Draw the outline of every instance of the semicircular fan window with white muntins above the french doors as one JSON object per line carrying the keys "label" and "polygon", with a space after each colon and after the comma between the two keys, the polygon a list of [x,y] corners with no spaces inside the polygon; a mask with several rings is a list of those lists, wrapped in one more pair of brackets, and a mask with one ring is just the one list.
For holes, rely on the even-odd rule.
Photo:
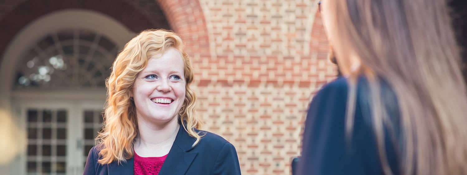
{"label": "semicircular fan window with white muntins above the french doors", "polygon": [[117,51],[115,43],[92,30],[51,32],[20,61],[14,89],[104,88]]}

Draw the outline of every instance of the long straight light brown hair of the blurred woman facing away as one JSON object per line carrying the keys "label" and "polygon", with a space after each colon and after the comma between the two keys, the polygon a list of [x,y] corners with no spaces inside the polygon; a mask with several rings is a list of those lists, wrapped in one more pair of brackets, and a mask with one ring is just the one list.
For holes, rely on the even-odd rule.
{"label": "long straight light brown hair of the blurred woman facing away", "polygon": [[[395,147],[400,147],[400,172],[466,175],[466,84],[447,1],[326,0],[324,3],[330,10],[330,42],[340,69],[350,77],[347,133],[352,131],[354,122],[355,77],[363,74],[369,81],[383,170],[392,174],[383,131],[391,125],[391,116],[383,105],[386,99],[382,98],[378,85],[384,79],[399,105],[403,139],[398,140],[401,146]],[[360,71],[351,70],[354,61],[361,63]]]}

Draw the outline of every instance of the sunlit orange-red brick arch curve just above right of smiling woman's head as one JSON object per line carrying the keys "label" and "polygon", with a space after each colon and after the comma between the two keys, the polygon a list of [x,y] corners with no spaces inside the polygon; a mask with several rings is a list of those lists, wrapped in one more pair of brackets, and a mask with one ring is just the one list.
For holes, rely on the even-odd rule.
{"label": "sunlit orange-red brick arch curve just above right of smiling woman's head", "polygon": [[209,37],[199,0],[156,0],[190,55],[209,55]]}

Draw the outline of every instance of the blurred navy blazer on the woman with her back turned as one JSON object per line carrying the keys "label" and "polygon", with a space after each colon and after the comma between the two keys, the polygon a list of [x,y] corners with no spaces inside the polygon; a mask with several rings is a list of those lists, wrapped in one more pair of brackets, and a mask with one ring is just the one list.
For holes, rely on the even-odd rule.
{"label": "blurred navy blazer on the woman with her back turned", "polygon": [[[396,145],[400,141],[397,100],[389,85],[381,82],[382,99],[394,125],[396,140],[385,128],[384,141],[389,168],[399,174]],[[303,134],[298,175],[382,175],[383,169],[373,131],[368,81],[357,83],[354,126],[346,133],[347,79],[340,77],[325,85],[311,101]],[[396,143],[396,144],[393,144]]]}

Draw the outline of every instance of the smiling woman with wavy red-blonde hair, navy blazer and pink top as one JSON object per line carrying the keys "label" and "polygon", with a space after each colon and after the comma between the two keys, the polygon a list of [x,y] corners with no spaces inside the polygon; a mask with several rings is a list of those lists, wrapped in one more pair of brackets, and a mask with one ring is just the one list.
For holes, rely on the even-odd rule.
{"label": "smiling woman with wavy red-blonde hair, navy blazer and pink top", "polygon": [[146,30],[129,41],[106,82],[104,128],[84,175],[240,175],[235,147],[199,130],[192,81],[175,33]]}

